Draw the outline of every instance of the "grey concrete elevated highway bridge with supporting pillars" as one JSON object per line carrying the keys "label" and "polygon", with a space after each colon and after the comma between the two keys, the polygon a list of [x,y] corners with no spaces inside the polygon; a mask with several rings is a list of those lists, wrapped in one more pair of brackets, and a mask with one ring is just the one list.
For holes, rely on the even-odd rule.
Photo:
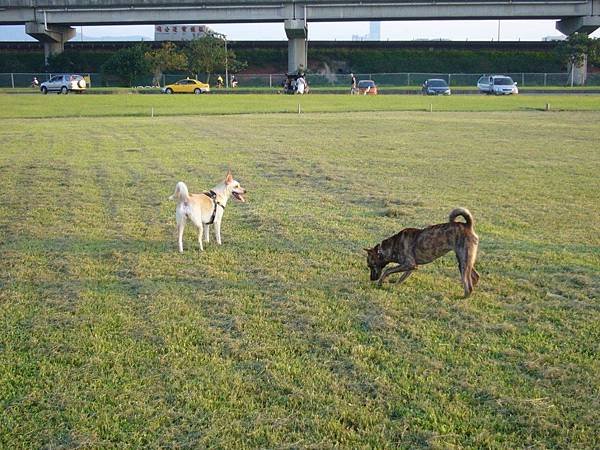
{"label": "grey concrete elevated highway bridge with supporting pillars", "polygon": [[600,0],[0,0],[0,25],[25,24],[59,53],[73,26],[281,22],[288,70],[306,67],[310,22],[556,19],[564,34],[600,27]]}

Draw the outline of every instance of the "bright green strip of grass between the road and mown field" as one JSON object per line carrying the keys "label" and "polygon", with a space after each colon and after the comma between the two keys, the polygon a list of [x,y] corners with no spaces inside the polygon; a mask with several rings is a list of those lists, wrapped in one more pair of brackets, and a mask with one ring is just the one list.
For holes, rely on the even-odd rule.
{"label": "bright green strip of grass between the road and mown field", "polygon": [[[600,111],[596,95],[454,96],[403,95],[0,95],[0,119],[222,115],[360,111]],[[289,120],[289,119],[288,119]],[[82,125],[85,122],[82,122]]]}

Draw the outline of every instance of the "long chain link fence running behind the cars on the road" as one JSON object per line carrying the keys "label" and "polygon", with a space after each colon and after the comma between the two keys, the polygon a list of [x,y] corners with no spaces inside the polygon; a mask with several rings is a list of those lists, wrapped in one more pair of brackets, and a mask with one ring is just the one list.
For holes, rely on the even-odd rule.
{"label": "long chain link fence running behind the cars on the road", "polygon": [[[0,73],[0,88],[24,88],[30,87],[34,77],[40,83],[49,80],[52,73]],[[127,82],[119,80],[115,76],[107,76],[101,73],[83,74],[89,76],[92,87],[131,87]],[[474,73],[356,73],[357,80],[373,80],[380,87],[415,87],[420,86],[429,78],[441,78],[446,80],[450,86],[473,87],[477,86],[477,80],[482,74]],[[519,87],[565,87],[570,86],[568,73],[503,73],[516,81]],[[212,75],[209,80],[215,84],[218,74]],[[174,83],[185,78],[184,74],[165,74],[161,85]],[[240,88],[272,88],[278,89],[282,86],[284,74],[236,74]],[[306,75],[307,81],[312,87],[350,88],[349,74],[313,74]],[[205,80],[200,76],[199,79]],[[152,85],[152,76],[138,77],[133,87]],[[588,73],[586,86],[600,86],[600,73]]]}

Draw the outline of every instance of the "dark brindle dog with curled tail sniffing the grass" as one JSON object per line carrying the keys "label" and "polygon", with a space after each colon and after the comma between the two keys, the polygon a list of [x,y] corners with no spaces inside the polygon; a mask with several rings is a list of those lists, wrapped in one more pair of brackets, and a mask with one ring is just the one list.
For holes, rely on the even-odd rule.
{"label": "dark brindle dog with curled tail sniffing the grass", "polygon": [[[455,222],[462,216],[466,222]],[[371,281],[379,279],[379,285],[389,275],[404,272],[398,283],[406,280],[419,264],[427,264],[445,255],[450,250],[456,253],[465,297],[473,292],[473,286],[479,281],[475,270],[479,237],[473,230],[473,216],[464,208],[456,208],[450,213],[447,223],[427,228],[405,228],[398,234],[385,239],[373,248],[365,248],[367,264],[371,269]],[[398,263],[383,272],[389,263]]]}

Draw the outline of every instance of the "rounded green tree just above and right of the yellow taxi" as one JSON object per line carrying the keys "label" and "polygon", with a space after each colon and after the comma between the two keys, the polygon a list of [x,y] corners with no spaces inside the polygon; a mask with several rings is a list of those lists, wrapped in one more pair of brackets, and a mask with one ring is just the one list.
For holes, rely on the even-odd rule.
{"label": "rounded green tree just above and right of the yellow taxi", "polygon": [[232,73],[243,70],[247,64],[238,61],[232,50],[227,49],[226,51],[226,43],[225,39],[214,35],[207,35],[191,41],[187,48],[190,73],[194,75],[205,73],[208,83],[211,74],[225,71],[226,64]]}

